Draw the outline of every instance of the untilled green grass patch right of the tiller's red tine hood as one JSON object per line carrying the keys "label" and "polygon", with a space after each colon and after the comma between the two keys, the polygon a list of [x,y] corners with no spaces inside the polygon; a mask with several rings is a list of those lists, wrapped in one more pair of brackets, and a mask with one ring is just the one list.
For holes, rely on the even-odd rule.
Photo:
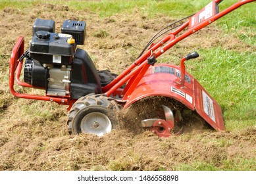
{"label": "untilled green grass patch right of the tiller's red tine hood", "polygon": [[[222,106],[227,129],[256,125],[256,54],[201,49],[193,76]],[[239,123],[240,122],[240,123]]]}

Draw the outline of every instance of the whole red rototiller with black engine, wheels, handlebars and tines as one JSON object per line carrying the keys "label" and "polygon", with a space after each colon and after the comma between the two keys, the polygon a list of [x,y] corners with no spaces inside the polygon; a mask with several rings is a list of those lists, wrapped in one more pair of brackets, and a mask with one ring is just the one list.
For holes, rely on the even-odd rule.
{"label": "whole red rototiller with black engine, wheels, handlebars and tines", "polygon": [[[222,111],[217,101],[185,70],[184,62],[199,55],[196,52],[186,55],[180,66],[156,62],[160,55],[182,39],[253,1],[238,1],[221,12],[218,11],[221,0],[211,1],[201,11],[158,32],[138,59],[118,76],[108,70],[97,70],[88,53],[76,49],[77,45],[84,44],[86,22],[65,20],[61,34],[58,34],[53,20],[36,19],[28,51],[24,52],[22,36],[14,46],[10,60],[10,91],[20,98],[68,105],[67,124],[71,134],[101,136],[109,133],[118,123],[116,113],[120,109],[150,97],[165,97],[172,102],[172,105],[163,103],[160,106],[163,116],[145,117],[139,122],[141,127],[148,127],[159,137],[182,133],[183,126],[180,125],[186,124],[182,118],[184,109],[201,116],[217,131],[224,131]],[[164,34],[163,39],[153,43]],[[20,80],[22,68],[24,81]],[[16,92],[14,78],[23,87],[44,89],[45,96]],[[180,128],[174,131],[177,126]]]}

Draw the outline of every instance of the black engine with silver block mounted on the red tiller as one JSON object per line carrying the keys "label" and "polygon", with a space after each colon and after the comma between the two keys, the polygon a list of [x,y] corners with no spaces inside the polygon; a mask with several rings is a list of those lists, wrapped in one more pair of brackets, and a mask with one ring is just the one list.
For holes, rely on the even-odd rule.
{"label": "black engine with silver block mounted on the red tiller", "polygon": [[[86,51],[76,49],[84,43],[83,21],[65,20],[62,33],[55,32],[53,20],[36,20],[30,41],[30,56],[24,67],[24,81],[45,89],[48,96],[79,99],[90,93],[102,93],[99,74]],[[75,43],[68,40],[71,36]]]}

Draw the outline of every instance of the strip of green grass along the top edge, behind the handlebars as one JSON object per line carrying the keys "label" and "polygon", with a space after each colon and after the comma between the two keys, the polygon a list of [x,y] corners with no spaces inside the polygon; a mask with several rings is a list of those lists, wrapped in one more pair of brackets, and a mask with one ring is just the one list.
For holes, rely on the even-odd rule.
{"label": "strip of green grass along the top edge, behind the handlebars", "polygon": [[[16,9],[24,9],[26,7],[39,7],[41,3],[51,3],[58,5],[66,5],[72,9],[81,11],[97,12],[100,17],[105,18],[115,14],[131,14],[134,11],[141,12],[144,16],[152,18],[157,14],[166,14],[173,18],[184,18],[201,10],[207,5],[209,0],[199,1],[179,1],[179,0],[165,0],[165,1],[125,1],[125,0],[105,0],[105,1],[41,1],[41,0],[0,0],[0,10],[5,7],[14,7]],[[220,11],[226,7],[236,3],[236,0],[225,0],[220,3]],[[226,33],[236,33],[240,39],[247,43],[256,44],[256,16],[253,12],[256,9],[255,3],[243,5],[242,8],[227,14],[220,18],[217,24],[225,30]],[[252,13],[247,13],[252,12]],[[170,22],[171,23],[171,22]],[[165,26],[165,25],[163,25]]]}

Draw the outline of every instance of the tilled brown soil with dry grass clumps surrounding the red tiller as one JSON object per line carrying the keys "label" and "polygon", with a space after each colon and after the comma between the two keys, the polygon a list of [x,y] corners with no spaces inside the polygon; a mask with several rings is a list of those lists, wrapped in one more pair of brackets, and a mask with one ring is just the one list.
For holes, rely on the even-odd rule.
{"label": "tilled brown soil with dry grass clumps surrounding the red tiller", "polygon": [[[206,128],[202,120],[185,116],[188,124],[181,136],[159,138],[142,129],[138,126],[140,119],[163,116],[157,110],[157,100],[146,99],[123,110],[119,114],[120,127],[104,137],[68,135],[66,106],[17,99],[9,93],[11,51],[19,35],[25,37],[28,48],[36,18],[55,20],[57,32],[66,19],[85,20],[86,44],[79,47],[88,51],[97,69],[116,74],[138,57],[157,30],[174,20],[161,14],[148,18],[138,10],[130,15],[101,18],[95,12],[51,4],[42,4],[40,9],[7,7],[0,11],[0,170],[180,170],[184,164],[192,163],[204,163],[221,170],[226,160],[239,162],[241,156],[255,158],[256,127],[216,132]],[[216,45],[238,51],[253,49],[234,35],[219,39],[220,34],[220,30],[209,26],[178,43],[176,47],[182,49],[172,51],[172,55],[181,58],[190,53],[191,48]],[[32,92],[43,94],[43,91]],[[161,99],[163,101],[176,110],[172,102]],[[179,108],[184,110],[182,104]],[[190,111],[186,113],[188,117],[196,116]],[[196,166],[193,169],[196,170]],[[251,170],[256,170],[255,166]]]}

